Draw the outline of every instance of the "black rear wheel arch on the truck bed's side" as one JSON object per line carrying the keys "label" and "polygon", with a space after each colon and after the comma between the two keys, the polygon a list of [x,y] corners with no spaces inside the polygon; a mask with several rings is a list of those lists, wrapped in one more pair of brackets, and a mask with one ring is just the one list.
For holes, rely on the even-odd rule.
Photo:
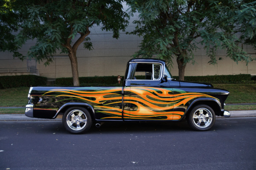
{"label": "black rear wheel arch on the truck bed's side", "polygon": [[90,113],[90,116],[92,117],[92,121],[94,122],[96,117],[95,117],[95,111],[92,105],[89,105],[87,103],[79,103],[79,102],[70,102],[70,103],[65,103],[64,105],[61,106],[61,108],[58,109],[56,115],[53,117],[53,119],[55,119],[59,114],[63,114],[65,113],[65,111],[67,111],[67,109],[71,108],[71,107],[83,107],[85,109],[87,109],[87,111]]}

